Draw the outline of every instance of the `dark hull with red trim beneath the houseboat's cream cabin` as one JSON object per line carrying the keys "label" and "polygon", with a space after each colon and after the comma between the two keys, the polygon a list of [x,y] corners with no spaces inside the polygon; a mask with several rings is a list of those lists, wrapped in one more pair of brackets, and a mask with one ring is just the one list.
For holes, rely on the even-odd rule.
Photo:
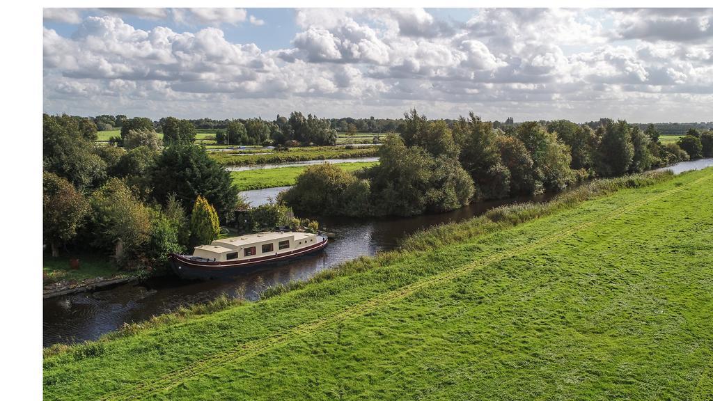
{"label": "dark hull with red trim beneath the houseboat's cream cabin", "polygon": [[180,278],[222,278],[238,275],[243,272],[252,271],[263,266],[284,263],[289,260],[318,252],[327,246],[328,239],[322,235],[317,235],[322,240],[308,247],[292,250],[279,255],[261,256],[246,260],[231,260],[227,262],[202,262],[191,260],[190,256],[172,254],[170,256],[173,271]]}

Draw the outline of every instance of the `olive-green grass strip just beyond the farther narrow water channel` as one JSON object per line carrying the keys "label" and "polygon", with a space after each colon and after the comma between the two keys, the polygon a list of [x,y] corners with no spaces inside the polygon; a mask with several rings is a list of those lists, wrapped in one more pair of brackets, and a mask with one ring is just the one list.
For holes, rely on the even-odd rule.
{"label": "olive-green grass strip just beyond the farther narrow water channel", "polygon": [[379,148],[352,148],[317,146],[314,148],[290,148],[287,152],[267,152],[265,155],[245,155],[245,152],[211,152],[210,157],[227,166],[250,166],[253,164],[289,163],[294,161],[325,160],[329,158],[373,157]]}

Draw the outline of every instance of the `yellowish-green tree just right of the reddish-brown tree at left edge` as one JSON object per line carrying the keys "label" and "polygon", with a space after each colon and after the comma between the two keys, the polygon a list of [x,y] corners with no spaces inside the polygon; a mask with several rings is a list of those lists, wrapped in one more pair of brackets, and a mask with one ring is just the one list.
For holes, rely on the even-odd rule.
{"label": "yellowish-green tree just right of the reddish-brown tree at left edge", "polygon": [[118,178],[109,178],[91,196],[93,244],[113,249],[119,265],[141,265],[138,260],[150,239],[150,212]]}

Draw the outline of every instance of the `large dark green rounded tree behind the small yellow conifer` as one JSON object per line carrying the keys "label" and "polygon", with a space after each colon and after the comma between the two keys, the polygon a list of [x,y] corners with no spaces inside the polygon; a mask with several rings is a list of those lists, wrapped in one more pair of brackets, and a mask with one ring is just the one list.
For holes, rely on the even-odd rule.
{"label": "large dark green rounded tree behind the small yellow conifer", "polygon": [[195,144],[165,148],[148,175],[153,196],[162,204],[173,193],[184,210],[189,210],[195,198],[203,196],[219,215],[228,218],[237,203],[230,173]]}

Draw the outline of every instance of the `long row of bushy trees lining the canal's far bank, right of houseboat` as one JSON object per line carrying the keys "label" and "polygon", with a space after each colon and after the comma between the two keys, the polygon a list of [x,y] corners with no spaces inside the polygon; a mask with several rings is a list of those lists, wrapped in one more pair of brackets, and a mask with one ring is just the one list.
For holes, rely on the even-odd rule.
{"label": "long row of bushy trees lining the canal's far bank, right of houseboat", "polygon": [[281,200],[298,212],[417,215],[472,200],[561,191],[593,177],[622,176],[713,155],[713,133],[690,131],[677,143],[626,121],[596,128],[559,120],[500,124],[472,112],[455,121],[404,114],[398,135],[379,148],[379,165],[354,173],[311,166]]}

